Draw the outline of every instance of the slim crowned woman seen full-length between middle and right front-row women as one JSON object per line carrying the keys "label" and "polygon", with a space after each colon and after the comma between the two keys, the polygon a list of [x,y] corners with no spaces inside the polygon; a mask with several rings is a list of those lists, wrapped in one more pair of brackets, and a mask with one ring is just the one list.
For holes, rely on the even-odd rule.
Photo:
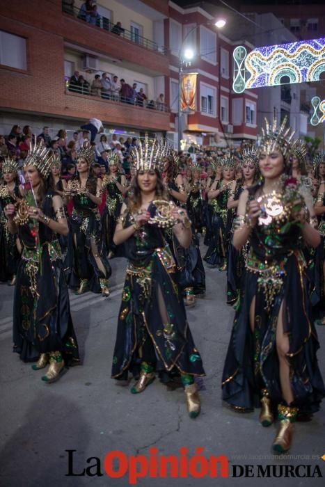
{"label": "slim crowned woman seen full-length between middle and right front-row women", "polygon": [[208,204],[212,206],[212,237],[204,260],[211,266],[218,266],[220,271],[227,269],[227,252],[230,241],[232,209],[227,208],[230,189],[234,180],[235,159],[232,154],[221,159],[222,179],[215,179],[207,193]]}

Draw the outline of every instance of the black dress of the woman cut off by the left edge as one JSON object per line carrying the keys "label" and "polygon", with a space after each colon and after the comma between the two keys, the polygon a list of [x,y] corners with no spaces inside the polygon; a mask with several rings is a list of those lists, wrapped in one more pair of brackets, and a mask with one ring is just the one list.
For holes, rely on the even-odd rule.
{"label": "black dress of the woman cut off by the left edge", "polygon": [[[19,187],[17,184],[14,187],[14,193],[17,198],[20,198]],[[8,191],[6,184],[0,185],[0,282],[7,282],[13,279],[17,273],[19,264],[19,251],[17,249],[16,240],[17,235],[9,232],[7,227],[7,217],[4,209],[10,203],[15,203],[13,195]]]}

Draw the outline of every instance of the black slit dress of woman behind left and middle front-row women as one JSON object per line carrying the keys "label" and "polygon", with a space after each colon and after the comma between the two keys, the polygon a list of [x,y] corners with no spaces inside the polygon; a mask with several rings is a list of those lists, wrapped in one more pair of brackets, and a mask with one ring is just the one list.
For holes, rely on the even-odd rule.
{"label": "black slit dress of woman behind left and middle front-row women", "polygon": [[[78,182],[77,179],[72,181]],[[96,185],[95,178],[88,179],[86,187],[93,195],[96,194]],[[100,211],[96,203],[82,193],[74,194],[72,200],[68,252],[64,260],[68,286],[76,289],[81,280],[88,280],[90,291],[100,293],[100,279],[109,279],[111,276],[111,266],[106,257],[102,236]],[[100,257],[106,276],[97,265],[95,256]]]}

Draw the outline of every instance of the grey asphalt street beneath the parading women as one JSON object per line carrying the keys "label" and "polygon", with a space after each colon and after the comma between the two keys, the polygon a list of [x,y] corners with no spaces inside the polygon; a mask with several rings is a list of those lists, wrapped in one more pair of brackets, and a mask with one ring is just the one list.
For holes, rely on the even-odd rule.
{"label": "grey asphalt street beneath the parading women", "polygon": [[[310,474],[318,468],[325,476],[325,461],[320,459],[325,454],[324,411],[309,423],[296,424],[290,455],[284,458],[271,454],[276,426],[262,428],[258,410],[239,414],[222,404],[221,374],[234,316],[225,304],[225,273],[206,267],[206,296],[187,310],[207,373],[199,383],[202,413],[196,420],[187,415],[182,388],[167,388],[156,380],[142,394],[134,395],[129,392],[132,383],[119,385],[110,378],[125,260],[113,259],[111,265],[109,298],[70,294],[82,365],[70,368],[53,384],[43,383],[40,377],[44,371],[34,372],[12,353],[13,288],[0,286],[0,486],[129,486],[127,472],[116,479],[104,473],[104,456],[118,450],[127,457],[143,455],[148,459],[150,447],[157,447],[159,455],[178,459],[181,447],[187,447],[188,459],[196,455],[196,447],[203,447],[200,455],[205,458],[228,456],[230,477],[233,465],[253,465],[246,473],[255,478],[210,478],[209,474],[201,479],[191,474],[182,479],[150,478],[148,474],[137,479],[137,486],[323,486],[324,479],[318,477],[263,479],[257,477],[257,465],[311,465]],[[317,328],[317,333],[324,373],[325,327]],[[75,450],[74,474],[94,465],[94,459],[87,463],[89,457],[98,457],[104,475],[66,476],[66,450]],[[118,470],[118,463],[114,462],[113,468]],[[237,467],[236,472],[244,472],[244,467]],[[308,468],[293,472],[307,474]],[[89,473],[96,473],[96,469]]]}

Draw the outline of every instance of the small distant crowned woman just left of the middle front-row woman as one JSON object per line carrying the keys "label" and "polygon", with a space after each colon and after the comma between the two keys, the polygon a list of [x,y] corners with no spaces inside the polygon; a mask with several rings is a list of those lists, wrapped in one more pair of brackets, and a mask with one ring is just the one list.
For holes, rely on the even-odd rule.
{"label": "small distant crowned woman just left of the middle front-row woman", "polygon": [[113,234],[115,232],[116,221],[120,216],[120,209],[124,195],[127,193],[127,181],[125,175],[118,174],[120,158],[118,154],[109,154],[107,158],[109,164],[109,174],[105,174],[102,179],[103,191],[106,191],[106,205],[102,214],[102,229],[106,252],[109,257],[116,253],[116,246],[113,244]]}

